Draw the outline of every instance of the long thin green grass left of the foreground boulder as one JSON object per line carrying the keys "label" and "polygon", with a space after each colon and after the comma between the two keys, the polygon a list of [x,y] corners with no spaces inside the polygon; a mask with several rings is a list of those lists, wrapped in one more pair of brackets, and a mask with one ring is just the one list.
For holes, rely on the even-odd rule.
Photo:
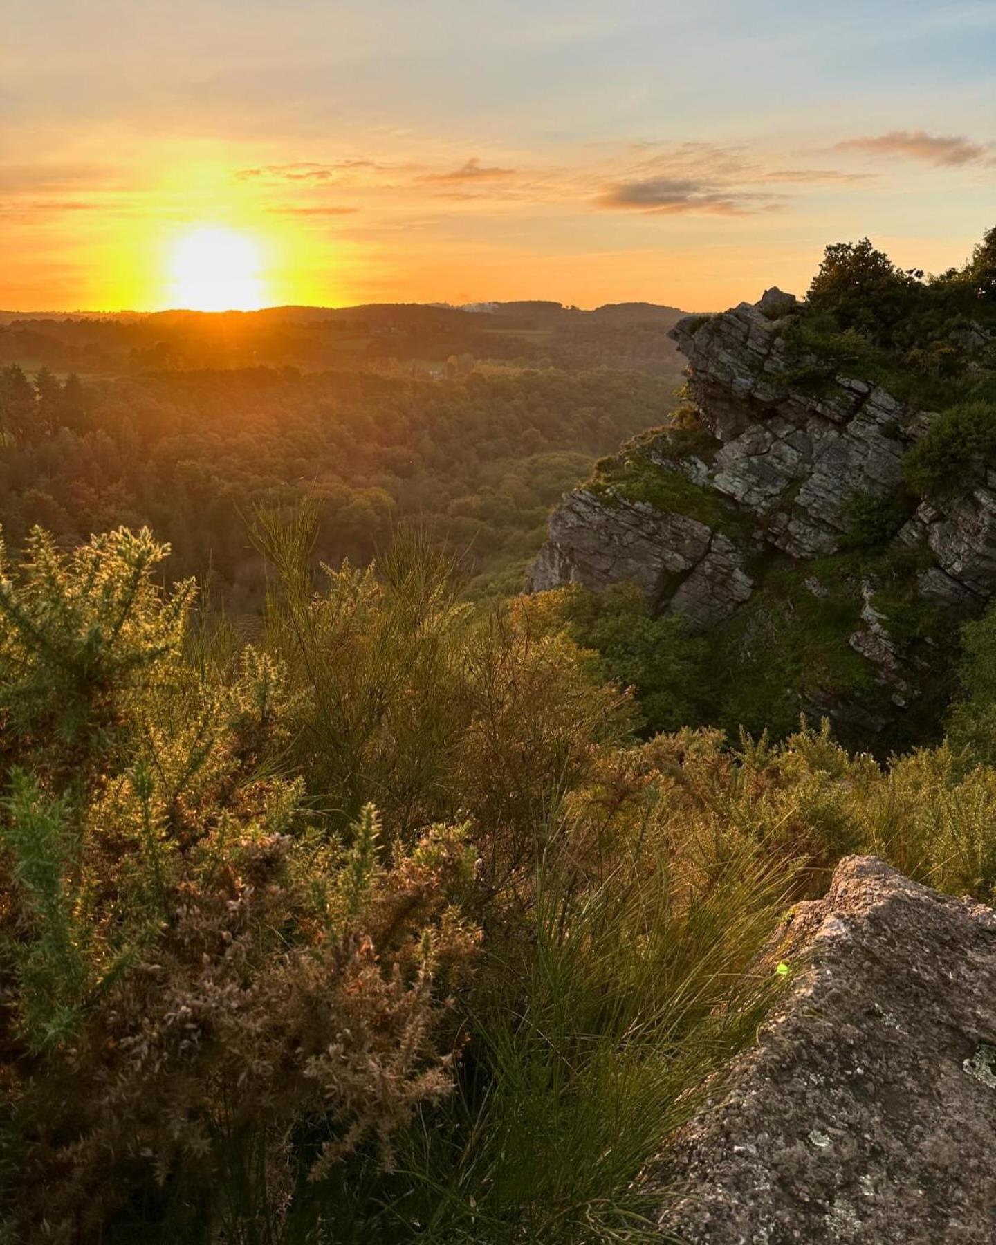
{"label": "long thin green grass left of the foreground boulder", "polygon": [[565,886],[566,843],[538,865],[529,955],[471,1017],[487,1083],[451,1099],[413,1155],[432,1190],[422,1239],[659,1239],[660,1195],[635,1177],[771,1000],[774,979],[748,969],[789,874],[705,840],[696,868],[664,834],[659,792],[631,798],[641,833],[599,881]]}

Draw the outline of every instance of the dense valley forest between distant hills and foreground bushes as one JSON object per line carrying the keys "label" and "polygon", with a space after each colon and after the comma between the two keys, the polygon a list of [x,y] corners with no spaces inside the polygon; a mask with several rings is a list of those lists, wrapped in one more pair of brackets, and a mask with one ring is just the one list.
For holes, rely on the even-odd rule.
{"label": "dense valley forest between distant hills and foreground bushes", "polygon": [[366,565],[398,523],[425,523],[437,545],[459,552],[478,590],[498,581],[518,591],[549,507],[599,454],[660,421],[679,374],[676,364],[664,378],[171,370],[88,380],[82,392],[66,381],[51,418],[21,374],[9,405],[27,412],[19,427],[41,422],[31,437],[6,438],[4,375],[0,523],[14,549],[34,524],[61,545],[148,524],[169,542],[171,578],[210,566],[217,595],[256,613],[263,563],[244,515],[304,497],[317,505],[317,552],[330,565]]}

